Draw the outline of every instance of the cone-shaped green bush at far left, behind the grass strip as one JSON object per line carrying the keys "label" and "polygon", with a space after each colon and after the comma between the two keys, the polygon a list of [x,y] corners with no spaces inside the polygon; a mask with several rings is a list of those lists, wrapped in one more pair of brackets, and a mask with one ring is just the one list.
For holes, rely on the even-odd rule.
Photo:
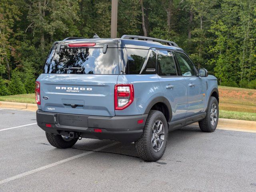
{"label": "cone-shaped green bush at far left, behind the grass strip", "polygon": [[18,76],[18,72],[16,70],[12,72],[8,90],[11,95],[26,94],[25,86],[22,83],[21,78]]}

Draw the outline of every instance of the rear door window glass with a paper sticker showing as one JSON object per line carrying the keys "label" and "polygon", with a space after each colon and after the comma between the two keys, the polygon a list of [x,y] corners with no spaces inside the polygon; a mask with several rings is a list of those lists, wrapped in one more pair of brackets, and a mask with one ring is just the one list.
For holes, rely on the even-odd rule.
{"label": "rear door window glass with a paper sticker showing", "polygon": [[172,52],[167,50],[157,50],[158,75],[177,76],[176,66]]}

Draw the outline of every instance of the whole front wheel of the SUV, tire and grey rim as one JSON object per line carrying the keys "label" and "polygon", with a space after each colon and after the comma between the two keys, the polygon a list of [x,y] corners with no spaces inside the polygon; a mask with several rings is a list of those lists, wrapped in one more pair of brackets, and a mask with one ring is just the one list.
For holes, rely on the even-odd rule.
{"label": "whole front wheel of the SUV, tire and grey rim", "polygon": [[199,127],[203,132],[215,131],[219,119],[219,105],[215,97],[210,97],[206,116],[203,120],[199,121]]}

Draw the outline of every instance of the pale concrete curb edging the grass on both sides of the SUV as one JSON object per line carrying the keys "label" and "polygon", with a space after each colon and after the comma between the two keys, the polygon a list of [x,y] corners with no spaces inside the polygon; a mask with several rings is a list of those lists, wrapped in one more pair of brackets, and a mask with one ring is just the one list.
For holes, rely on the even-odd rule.
{"label": "pale concrete curb edging the grass on both sides of the SUV", "polygon": [[[14,109],[30,110],[30,111],[36,111],[38,109],[37,104],[6,102],[6,101],[0,101],[0,108],[14,108]],[[198,126],[198,123],[193,123],[192,125]],[[225,130],[256,132],[256,121],[220,118],[217,128],[225,129]]]}

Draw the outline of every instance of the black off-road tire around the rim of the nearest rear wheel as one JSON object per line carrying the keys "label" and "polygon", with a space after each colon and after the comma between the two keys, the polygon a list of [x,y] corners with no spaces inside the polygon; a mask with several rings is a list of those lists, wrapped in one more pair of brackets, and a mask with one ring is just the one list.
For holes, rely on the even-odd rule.
{"label": "black off-road tire around the rim of the nearest rear wheel", "polygon": [[[160,151],[155,152],[153,150],[152,146],[152,128],[157,120],[162,121],[164,126],[164,143],[162,144],[162,147],[160,148]],[[143,128],[143,134],[138,139],[135,144],[135,149],[140,156],[145,161],[157,161],[159,160],[165,151],[166,144],[168,140],[168,126],[166,122],[166,118],[164,117],[164,114],[162,112],[157,110],[150,110],[148,114],[148,118],[146,120],[145,126]]]}

